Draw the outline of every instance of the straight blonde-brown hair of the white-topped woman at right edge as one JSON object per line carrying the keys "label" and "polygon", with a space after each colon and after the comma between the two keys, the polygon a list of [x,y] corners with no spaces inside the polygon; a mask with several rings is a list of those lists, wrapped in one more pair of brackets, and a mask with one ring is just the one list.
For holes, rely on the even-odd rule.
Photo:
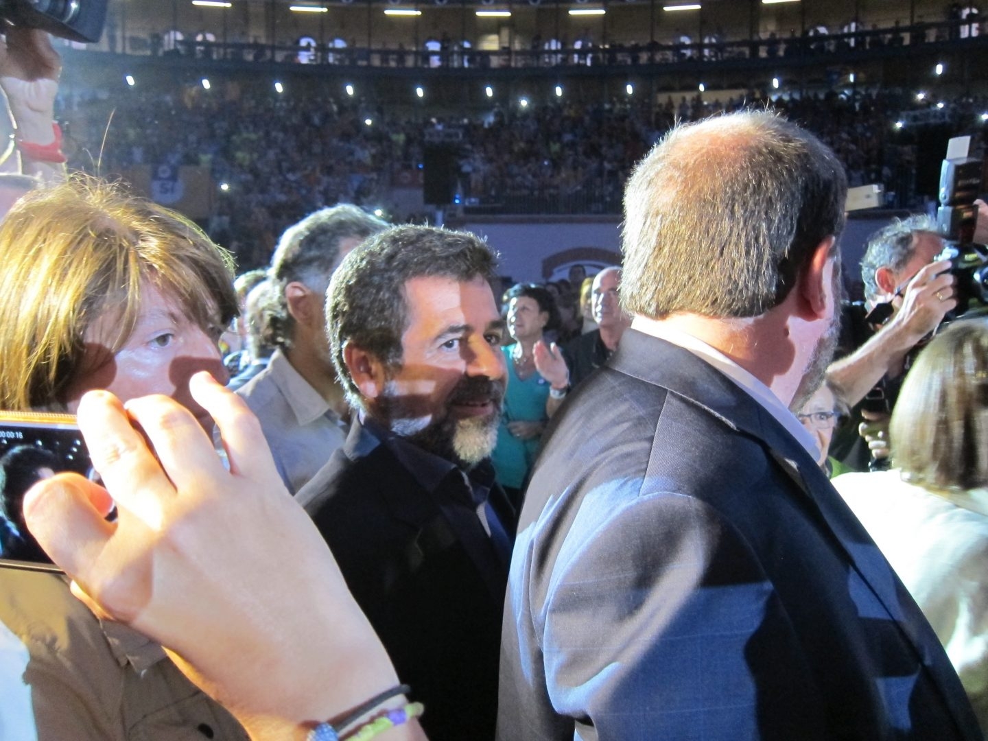
{"label": "straight blonde-brown hair of the white-topped woman at right edge", "polygon": [[988,319],[956,322],[920,353],[889,435],[905,480],[934,491],[988,486]]}

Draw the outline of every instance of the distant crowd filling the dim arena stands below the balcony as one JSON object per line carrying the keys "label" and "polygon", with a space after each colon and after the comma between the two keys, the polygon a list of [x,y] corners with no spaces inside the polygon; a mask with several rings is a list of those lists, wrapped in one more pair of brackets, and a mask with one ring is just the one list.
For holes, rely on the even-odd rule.
{"label": "distant crowd filling the dim arena stands below the balcony", "polygon": [[936,103],[917,100],[913,91],[779,96],[771,104],[754,92],[726,100],[708,93],[667,96],[654,112],[626,98],[496,106],[483,116],[415,121],[404,111],[326,93],[278,95],[228,82],[210,91],[72,98],[60,115],[70,124],[72,168],[124,179],[142,165],[208,168],[213,183],[228,188],[217,192],[208,231],[249,268],[267,263],[288,224],[319,207],[387,209],[392,184],[421,172],[426,132],[436,127],[461,131],[457,203],[502,213],[619,213],[631,167],[675,121],[771,105],[833,147],[852,186],[881,183],[896,206],[911,206],[912,142],[908,132],[890,135],[894,123],[903,112],[929,112],[962,132],[985,102],[947,101],[944,110]]}

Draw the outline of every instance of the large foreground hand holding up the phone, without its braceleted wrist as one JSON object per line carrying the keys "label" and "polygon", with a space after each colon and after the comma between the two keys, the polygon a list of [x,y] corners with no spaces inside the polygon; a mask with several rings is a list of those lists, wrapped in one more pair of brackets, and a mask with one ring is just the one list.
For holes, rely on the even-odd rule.
{"label": "large foreground hand holding up the phone, without its braceleted wrist", "polygon": [[[172,399],[82,398],[79,426],[107,488],[62,473],[25,502],[73,592],[169,649],[248,730],[251,718],[332,717],[397,684],[257,419],[208,373],[190,390],[216,422],[229,470]],[[112,502],[116,522],[105,519]]]}

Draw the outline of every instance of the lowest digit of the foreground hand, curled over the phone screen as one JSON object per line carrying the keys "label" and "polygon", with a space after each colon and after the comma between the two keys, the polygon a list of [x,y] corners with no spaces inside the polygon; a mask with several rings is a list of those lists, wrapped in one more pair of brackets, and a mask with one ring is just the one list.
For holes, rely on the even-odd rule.
{"label": "lowest digit of the foreground hand, curled over the phone screen", "polygon": [[111,504],[102,486],[77,473],[59,473],[28,491],[24,518],[51,559],[85,583],[117,530],[104,519]]}

